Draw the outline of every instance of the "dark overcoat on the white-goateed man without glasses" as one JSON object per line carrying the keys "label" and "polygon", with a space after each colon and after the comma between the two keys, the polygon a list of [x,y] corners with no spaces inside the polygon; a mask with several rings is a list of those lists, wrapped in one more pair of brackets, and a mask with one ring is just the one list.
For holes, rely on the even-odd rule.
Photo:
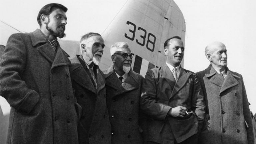
{"label": "dark overcoat on the white-goateed man without glasses", "polygon": [[[79,144],[110,144],[111,127],[109,122],[105,77],[97,65],[97,89],[78,60],[82,56],[71,59],[70,74],[77,102],[83,112],[78,125]],[[86,67],[87,68],[87,67]]]}

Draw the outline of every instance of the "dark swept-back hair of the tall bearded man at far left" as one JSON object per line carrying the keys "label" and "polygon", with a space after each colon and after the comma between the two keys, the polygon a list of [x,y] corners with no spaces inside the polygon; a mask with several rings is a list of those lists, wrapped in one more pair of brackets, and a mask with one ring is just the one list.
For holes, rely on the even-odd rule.
{"label": "dark swept-back hair of the tall bearded man at far left", "polygon": [[37,15],[37,23],[41,26],[41,20],[40,20],[40,16],[43,15],[49,15],[52,13],[53,8],[59,8],[61,10],[63,10],[64,12],[67,12],[68,8],[66,8],[65,6],[63,6],[62,4],[58,4],[58,3],[50,3],[45,5],[44,7],[41,8],[41,10],[39,11],[38,15]]}

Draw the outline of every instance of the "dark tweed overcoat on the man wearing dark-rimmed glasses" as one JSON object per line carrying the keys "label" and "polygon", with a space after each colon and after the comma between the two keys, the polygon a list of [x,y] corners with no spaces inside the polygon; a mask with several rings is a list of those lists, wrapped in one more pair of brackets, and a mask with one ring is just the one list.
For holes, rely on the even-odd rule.
{"label": "dark tweed overcoat on the man wearing dark-rimmed glasses", "polygon": [[103,73],[106,78],[112,144],[142,144],[139,105],[143,77],[131,69],[122,83],[113,66]]}

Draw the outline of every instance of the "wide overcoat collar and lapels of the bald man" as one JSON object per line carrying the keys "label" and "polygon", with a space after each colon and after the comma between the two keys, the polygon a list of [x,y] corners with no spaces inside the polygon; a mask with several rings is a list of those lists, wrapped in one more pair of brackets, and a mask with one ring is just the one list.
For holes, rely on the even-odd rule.
{"label": "wide overcoat collar and lapels of the bald man", "polygon": [[220,76],[216,72],[216,70],[212,67],[211,64],[209,65],[208,68],[205,69],[206,78],[208,78],[211,83],[221,87],[220,93],[227,90],[228,88],[231,88],[237,85],[238,84],[237,79],[240,78],[239,75],[230,71],[228,67],[226,67],[226,73],[227,73],[227,76],[224,79],[222,76]]}

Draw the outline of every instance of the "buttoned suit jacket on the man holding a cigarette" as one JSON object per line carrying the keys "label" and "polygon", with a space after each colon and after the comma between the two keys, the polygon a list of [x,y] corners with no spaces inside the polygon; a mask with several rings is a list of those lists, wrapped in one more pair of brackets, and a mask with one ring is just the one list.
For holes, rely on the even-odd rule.
{"label": "buttoned suit jacket on the man holding a cigarette", "polygon": [[[168,116],[172,107],[184,106],[191,112],[183,118]],[[147,114],[148,141],[170,143],[174,136],[178,143],[198,132],[198,120],[204,118],[205,104],[201,86],[195,73],[181,68],[175,83],[166,64],[147,71],[142,85],[141,109]]]}

